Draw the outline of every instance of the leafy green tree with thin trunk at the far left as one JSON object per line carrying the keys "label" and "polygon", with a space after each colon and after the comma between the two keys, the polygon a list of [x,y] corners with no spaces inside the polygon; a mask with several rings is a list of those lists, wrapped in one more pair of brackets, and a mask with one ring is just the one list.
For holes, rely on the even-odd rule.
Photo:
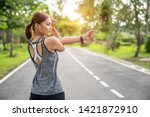
{"label": "leafy green tree with thin trunk at the far left", "polygon": [[[10,56],[13,57],[13,30],[19,28],[25,29],[27,25],[26,19],[36,9],[38,0],[2,0],[0,2],[0,18],[3,16],[6,20],[0,23],[0,28],[6,31],[6,39],[3,39],[3,46],[5,43],[10,42]],[[2,26],[3,24],[3,26]],[[6,27],[7,26],[7,27]],[[24,34],[24,31],[22,32]],[[22,36],[21,36],[22,38]],[[5,41],[6,40],[6,41]]]}

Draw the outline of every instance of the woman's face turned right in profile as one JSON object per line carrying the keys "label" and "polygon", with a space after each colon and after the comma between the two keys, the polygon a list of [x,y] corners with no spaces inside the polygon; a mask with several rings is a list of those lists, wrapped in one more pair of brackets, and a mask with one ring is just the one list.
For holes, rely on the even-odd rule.
{"label": "woman's face turned right in profile", "polygon": [[50,35],[51,19],[47,18],[39,24],[38,29],[42,35]]}

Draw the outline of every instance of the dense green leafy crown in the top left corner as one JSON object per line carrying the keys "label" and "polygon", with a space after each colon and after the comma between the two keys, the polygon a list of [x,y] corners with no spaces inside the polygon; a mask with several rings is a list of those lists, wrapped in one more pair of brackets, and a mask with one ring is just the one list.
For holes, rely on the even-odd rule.
{"label": "dense green leafy crown in the top left corner", "polygon": [[5,17],[3,23],[7,25],[7,29],[20,28],[25,25],[25,17],[36,10],[38,3],[38,0],[2,0],[0,2],[0,18],[1,16]]}

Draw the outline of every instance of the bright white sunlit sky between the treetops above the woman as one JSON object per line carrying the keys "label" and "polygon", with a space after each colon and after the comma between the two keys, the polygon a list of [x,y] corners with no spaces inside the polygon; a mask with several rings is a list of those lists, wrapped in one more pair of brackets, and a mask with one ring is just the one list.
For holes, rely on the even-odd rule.
{"label": "bright white sunlit sky between the treetops above the woman", "polygon": [[81,14],[77,12],[79,6],[77,5],[81,0],[63,0],[62,11],[58,8],[58,0],[46,0],[43,1],[48,5],[50,13],[56,12],[61,17],[68,17],[69,20],[77,20],[77,24],[80,26],[85,23],[85,20],[82,18]]}

